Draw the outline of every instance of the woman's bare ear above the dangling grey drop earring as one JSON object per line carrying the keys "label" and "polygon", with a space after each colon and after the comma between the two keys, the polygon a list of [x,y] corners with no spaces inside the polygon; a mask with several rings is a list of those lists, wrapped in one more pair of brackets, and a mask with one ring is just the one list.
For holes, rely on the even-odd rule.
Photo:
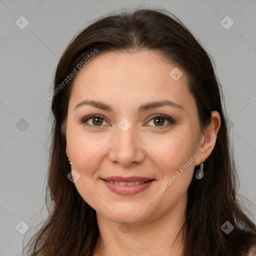
{"label": "woman's bare ear above the dangling grey drop earring", "polygon": [[204,130],[203,134],[201,134],[201,139],[197,147],[197,150],[201,153],[201,155],[195,160],[195,165],[202,163],[203,159],[206,159],[212,152],[216,143],[220,123],[221,121],[219,113],[217,111],[212,111],[211,123]]}

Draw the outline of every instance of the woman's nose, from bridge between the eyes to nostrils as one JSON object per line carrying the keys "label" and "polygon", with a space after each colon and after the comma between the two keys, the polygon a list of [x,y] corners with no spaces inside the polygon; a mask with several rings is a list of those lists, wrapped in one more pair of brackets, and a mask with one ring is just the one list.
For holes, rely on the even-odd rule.
{"label": "woman's nose, from bridge between the eyes to nostrils", "polygon": [[129,167],[141,163],[145,158],[145,144],[134,133],[133,126],[126,131],[117,127],[116,134],[109,142],[109,159],[114,163]]}

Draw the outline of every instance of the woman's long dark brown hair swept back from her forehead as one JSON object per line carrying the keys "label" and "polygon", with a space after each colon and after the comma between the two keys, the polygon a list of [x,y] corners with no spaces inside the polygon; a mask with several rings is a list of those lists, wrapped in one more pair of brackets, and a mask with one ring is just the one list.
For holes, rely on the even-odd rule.
{"label": "woman's long dark brown hair swept back from her forehead", "polygon": [[[237,198],[238,180],[227,115],[212,57],[170,12],[136,8],[94,20],[75,35],[58,62],[49,96],[53,113],[45,195],[49,215],[27,243],[30,255],[91,256],[99,235],[95,210],[67,178],[70,165],[65,153],[65,121],[73,78],[67,81],[66,76],[79,71],[81,63],[85,66],[85,59],[93,56],[92,52],[143,49],[160,52],[163,59],[185,70],[201,129],[210,123],[211,111],[218,111],[221,118],[215,147],[204,162],[207,177],[193,177],[188,187],[184,255],[240,256],[256,241],[256,226]],[[229,234],[221,230],[225,221],[234,227]]]}

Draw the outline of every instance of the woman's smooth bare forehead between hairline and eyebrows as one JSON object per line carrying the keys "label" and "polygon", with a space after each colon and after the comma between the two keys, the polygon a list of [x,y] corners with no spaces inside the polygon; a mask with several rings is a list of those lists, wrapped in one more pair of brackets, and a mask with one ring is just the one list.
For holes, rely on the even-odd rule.
{"label": "woman's smooth bare forehead between hairline and eyebrows", "polygon": [[[173,73],[180,77],[174,79]],[[172,100],[184,108],[193,101],[184,70],[152,50],[99,52],[78,72],[73,83],[70,101],[75,102],[70,103],[84,98],[113,104]]]}

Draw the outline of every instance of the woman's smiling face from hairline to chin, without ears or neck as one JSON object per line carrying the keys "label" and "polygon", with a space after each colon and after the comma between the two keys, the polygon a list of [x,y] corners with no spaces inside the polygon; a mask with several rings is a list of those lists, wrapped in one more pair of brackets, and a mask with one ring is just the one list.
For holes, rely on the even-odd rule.
{"label": "woman's smiling face from hairline to chin, without ears or neck", "polygon": [[[97,103],[81,103],[88,100]],[[116,222],[142,223],[184,209],[194,166],[206,158],[198,151],[202,134],[186,75],[154,51],[92,58],[74,80],[66,139],[78,192]],[[110,176],[153,181],[118,186],[103,180]]]}

